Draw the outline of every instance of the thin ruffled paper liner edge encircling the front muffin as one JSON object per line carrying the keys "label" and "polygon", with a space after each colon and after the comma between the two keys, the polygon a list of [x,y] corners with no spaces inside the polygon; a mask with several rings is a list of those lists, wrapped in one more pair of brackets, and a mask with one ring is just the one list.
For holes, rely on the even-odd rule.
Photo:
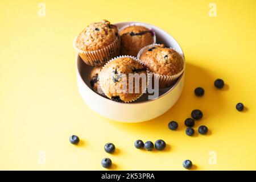
{"label": "thin ruffled paper liner edge encircling the front muffin", "polygon": [[[138,61],[138,63],[139,63],[139,60],[137,59],[137,57],[134,57],[134,56],[127,56],[127,55],[125,55],[125,56],[117,56],[117,57],[114,57],[112,60],[109,60],[108,61],[108,63],[106,63],[105,65],[104,65],[104,67],[106,66],[106,65],[108,65],[110,62],[112,62],[112,61],[114,61],[114,60],[116,60],[116,59],[119,59],[119,58],[122,58],[122,57],[129,57],[129,58],[131,58],[131,59],[133,59],[133,60],[135,60],[135,61]],[[103,70],[104,69],[104,67],[102,67],[102,69],[101,70]],[[100,78],[100,86],[101,86],[101,89],[102,89],[102,91],[104,92],[104,94],[107,96],[107,94],[106,93],[108,93],[106,90],[104,90],[104,88],[102,87],[102,85],[101,85],[101,77],[102,77],[102,75],[101,75],[101,73],[102,72],[100,72],[100,75],[99,75],[99,78]],[[146,73],[147,73],[147,85],[145,86],[145,88],[143,89],[143,92],[141,93],[141,94],[139,94],[139,96],[138,97],[136,97],[136,98],[134,98],[133,100],[130,100],[130,101],[122,101],[122,102],[124,102],[124,103],[129,103],[129,102],[134,102],[134,101],[136,101],[136,100],[138,100],[138,98],[140,98],[144,93],[146,93],[146,90],[147,90],[147,87],[148,87],[148,84],[149,84],[149,78],[148,78],[148,70],[146,69]],[[118,101],[118,100],[114,100],[114,101],[117,101],[117,102],[120,102],[120,101]]]}

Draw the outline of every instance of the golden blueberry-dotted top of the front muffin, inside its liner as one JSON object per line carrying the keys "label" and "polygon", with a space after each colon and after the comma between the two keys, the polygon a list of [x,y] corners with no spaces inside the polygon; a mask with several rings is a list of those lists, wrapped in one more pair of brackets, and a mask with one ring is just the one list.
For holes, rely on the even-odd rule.
{"label": "golden blueberry-dotted top of the front muffin, inside its liner", "polygon": [[111,100],[132,102],[146,91],[147,70],[133,56],[116,57],[102,68],[100,84]]}

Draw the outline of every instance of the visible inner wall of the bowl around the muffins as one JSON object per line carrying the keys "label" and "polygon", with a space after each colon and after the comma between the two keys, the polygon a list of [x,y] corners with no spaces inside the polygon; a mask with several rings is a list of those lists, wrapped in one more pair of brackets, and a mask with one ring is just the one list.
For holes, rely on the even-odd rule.
{"label": "visible inner wall of the bowl around the muffins", "polygon": [[[121,28],[130,23],[138,23],[138,22],[122,22],[122,23],[115,23],[115,25],[118,28]],[[146,25],[149,27],[152,27],[152,30],[155,31],[156,43],[165,44],[168,47],[174,48],[177,52],[180,53],[181,56],[184,57],[181,47],[176,42],[176,40],[174,38],[172,38],[172,36],[170,34],[168,34],[166,31],[163,31],[162,29],[160,29],[158,27],[152,26],[150,24],[146,24]],[[78,68],[79,74],[80,74],[82,80],[85,82],[86,86],[91,88],[90,81],[89,81],[89,75],[90,75],[90,71],[92,70],[93,67],[85,64],[84,61],[82,61],[81,57],[77,56],[77,68]],[[183,75],[181,75],[181,76],[183,76]],[[177,81],[180,81],[180,79],[177,79]],[[172,87],[175,85],[176,84],[174,83],[172,86],[170,86],[168,88],[159,89],[159,97],[162,96],[163,94],[166,94],[167,92],[169,92],[172,89]],[[93,92],[93,90],[92,90],[92,92]],[[143,94],[142,97],[140,97],[138,100],[136,100],[133,103],[149,101],[147,95],[148,95],[147,93]]]}

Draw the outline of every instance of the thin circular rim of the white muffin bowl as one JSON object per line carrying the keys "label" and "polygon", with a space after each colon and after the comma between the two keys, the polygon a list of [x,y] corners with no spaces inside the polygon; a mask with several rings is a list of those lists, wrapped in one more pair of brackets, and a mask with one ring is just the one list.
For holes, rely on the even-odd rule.
{"label": "thin circular rim of the white muffin bowl", "polygon": [[[118,23],[114,23],[114,24],[122,24],[122,23],[125,24],[125,23],[141,23],[141,22],[118,22]],[[143,23],[143,24],[147,24],[148,26],[151,26],[151,27],[156,27],[156,26],[151,25],[151,24],[148,24],[148,23]],[[159,28],[159,27],[156,27],[156,28]],[[159,28],[159,29],[162,30],[162,31],[164,31],[162,28]],[[164,32],[166,32],[166,31],[164,31]],[[170,35],[168,32],[166,32],[166,33],[167,33],[168,35]],[[170,36],[171,36],[171,35],[170,35]],[[174,39],[173,36],[171,36],[171,37]],[[181,52],[182,52],[182,54],[183,54],[183,57],[184,57],[184,59],[185,59],[183,49],[181,48],[181,46],[180,46],[180,44],[177,42],[177,40],[176,40],[176,39],[174,39],[174,40],[175,40],[175,42],[179,45],[179,47],[180,47],[180,49],[181,49]],[[138,104],[145,104],[145,103],[147,103],[147,102],[152,102],[152,101],[158,100],[158,99],[160,99],[160,98],[166,96],[168,93],[170,93],[171,90],[173,90],[173,89],[177,86],[177,84],[179,84],[179,82],[181,81],[181,78],[184,77],[184,72],[185,72],[185,70],[184,70],[184,72],[180,75],[180,77],[177,79],[177,81],[175,82],[175,84],[172,85],[172,87],[171,87],[166,93],[164,93],[164,94],[162,94],[161,96],[155,98],[154,100],[147,100],[147,101],[143,101],[143,102],[123,103],[123,102],[112,101],[112,100],[110,100],[110,99],[108,99],[108,98],[102,97],[102,96],[100,96],[99,94],[95,93],[91,88],[89,88],[89,86],[88,86],[88,85],[85,83],[85,81],[82,79],[81,73],[79,72],[79,68],[78,68],[79,59],[81,59],[81,57],[79,56],[79,53],[77,53],[77,54],[76,54],[76,73],[77,73],[77,75],[79,75],[79,78],[80,78],[80,80],[83,82],[83,84],[84,84],[84,85],[90,90],[90,92],[91,92],[92,94],[94,94],[96,97],[101,98],[101,99],[104,99],[104,100],[106,100],[106,101],[108,101],[108,102],[111,102],[111,103],[113,103],[113,104],[119,104],[119,105],[121,105],[121,104],[125,104],[125,105],[135,105],[135,104],[137,104],[137,105],[138,105]]]}

